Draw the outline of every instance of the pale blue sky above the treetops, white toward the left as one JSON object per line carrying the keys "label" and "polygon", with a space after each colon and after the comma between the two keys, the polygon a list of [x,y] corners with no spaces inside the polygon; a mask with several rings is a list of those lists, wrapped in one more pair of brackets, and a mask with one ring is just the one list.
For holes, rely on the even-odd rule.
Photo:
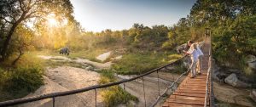
{"label": "pale blue sky above the treetops, white toward the left", "polygon": [[189,14],[195,0],[71,0],[75,20],[85,31],[129,29],[176,24]]}

